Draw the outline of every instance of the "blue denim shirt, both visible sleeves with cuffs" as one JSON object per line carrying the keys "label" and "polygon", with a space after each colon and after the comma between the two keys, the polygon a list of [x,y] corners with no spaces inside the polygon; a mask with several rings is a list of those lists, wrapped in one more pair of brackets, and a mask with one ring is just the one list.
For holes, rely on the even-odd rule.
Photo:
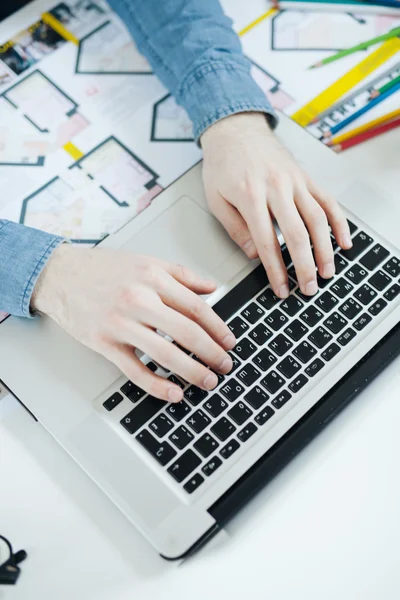
{"label": "blue denim shirt, both visible sleeves with cuffs", "polygon": [[[109,0],[154,73],[185,108],[196,140],[215,121],[258,111],[276,118],[250,75],[218,0]],[[0,310],[29,317],[36,281],[63,238],[0,220]]]}

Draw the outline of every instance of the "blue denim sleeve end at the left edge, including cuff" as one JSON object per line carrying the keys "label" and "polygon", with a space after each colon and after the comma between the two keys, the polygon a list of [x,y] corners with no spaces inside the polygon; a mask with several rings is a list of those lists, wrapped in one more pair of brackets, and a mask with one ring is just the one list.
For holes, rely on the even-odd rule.
{"label": "blue denim sleeve end at the left edge, including cuff", "polygon": [[0,310],[31,317],[35,283],[63,238],[0,220]]}

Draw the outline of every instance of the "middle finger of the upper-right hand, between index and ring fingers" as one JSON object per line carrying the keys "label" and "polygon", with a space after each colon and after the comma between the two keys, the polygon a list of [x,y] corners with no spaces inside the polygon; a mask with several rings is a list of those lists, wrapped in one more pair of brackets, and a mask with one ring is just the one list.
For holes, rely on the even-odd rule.
{"label": "middle finger of the upper-right hand, between index and ring fingers", "polygon": [[303,294],[312,296],[318,291],[315,263],[307,229],[294,203],[290,180],[274,190],[270,206],[292,257],[300,289]]}

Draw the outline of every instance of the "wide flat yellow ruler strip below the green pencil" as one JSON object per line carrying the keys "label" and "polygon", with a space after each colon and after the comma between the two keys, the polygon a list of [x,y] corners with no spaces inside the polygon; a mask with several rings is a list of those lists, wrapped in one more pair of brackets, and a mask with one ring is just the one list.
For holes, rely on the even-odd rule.
{"label": "wide flat yellow ruler strip below the green pencil", "polygon": [[354,88],[363,79],[373,73],[389,58],[400,51],[400,38],[395,37],[384,42],[374,52],[369,54],[358,65],[350,69],[325,91],[303,106],[292,115],[292,119],[299,125],[306,127],[321,114],[327,111],[339,98],[342,98],[349,90]]}

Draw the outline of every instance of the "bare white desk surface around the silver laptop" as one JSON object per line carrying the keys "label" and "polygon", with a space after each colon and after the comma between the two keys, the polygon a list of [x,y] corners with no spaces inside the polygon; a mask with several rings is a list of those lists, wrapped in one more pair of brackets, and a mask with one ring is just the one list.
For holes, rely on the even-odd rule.
{"label": "bare white desk surface around the silver laptop", "polygon": [[[345,153],[392,198],[400,137]],[[0,401],[0,532],[29,559],[0,600],[398,600],[400,360],[200,554],[159,558],[40,425]]]}

